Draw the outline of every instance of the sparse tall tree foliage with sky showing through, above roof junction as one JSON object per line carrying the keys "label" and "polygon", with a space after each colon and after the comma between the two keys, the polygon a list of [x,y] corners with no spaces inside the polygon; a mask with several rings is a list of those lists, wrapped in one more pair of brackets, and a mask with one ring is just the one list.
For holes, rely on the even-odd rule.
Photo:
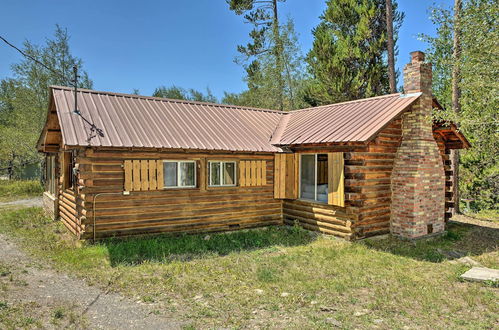
{"label": "sparse tall tree foliage with sky showing through, above roof junction", "polygon": [[[283,1],[282,1],[283,2]],[[223,103],[289,110],[304,106],[304,68],[294,23],[280,24],[277,1],[230,0],[230,9],[253,25],[250,42],[237,47],[248,89],[226,93]]]}

